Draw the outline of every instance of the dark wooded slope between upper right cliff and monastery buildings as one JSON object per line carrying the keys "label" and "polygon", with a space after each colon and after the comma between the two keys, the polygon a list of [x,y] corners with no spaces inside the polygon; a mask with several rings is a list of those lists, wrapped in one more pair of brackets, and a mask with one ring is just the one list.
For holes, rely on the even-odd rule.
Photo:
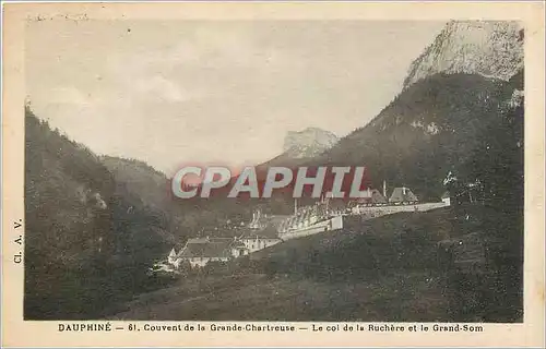
{"label": "dark wooded slope between upper right cliff and monastery buildings", "polygon": [[444,176],[495,132],[514,88],[480,75],[424,79],[309,164],[364,165],[376,188],[387,180],[412,188],[422,200],[439,200]]}

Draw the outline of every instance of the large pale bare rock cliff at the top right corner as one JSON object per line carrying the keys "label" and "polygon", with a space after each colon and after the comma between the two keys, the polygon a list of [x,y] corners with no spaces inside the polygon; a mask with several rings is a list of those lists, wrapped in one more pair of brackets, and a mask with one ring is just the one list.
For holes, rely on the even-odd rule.
{"label": "large pale bare rock cliff at the top right corner", "polygon": [[518,22],[450,22],[410,67],[404,88],[436,73],[479,74],[508,81],[523,68]]}

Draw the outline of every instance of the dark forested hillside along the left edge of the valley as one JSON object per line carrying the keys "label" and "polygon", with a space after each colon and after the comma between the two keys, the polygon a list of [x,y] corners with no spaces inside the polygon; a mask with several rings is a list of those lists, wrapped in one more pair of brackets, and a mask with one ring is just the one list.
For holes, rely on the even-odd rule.
{"label": "dark forested hillside along the left edge of the valley", "polygon": [[153,287],[164,214],[29,108],[25,123],[25,318],[90,318]]}

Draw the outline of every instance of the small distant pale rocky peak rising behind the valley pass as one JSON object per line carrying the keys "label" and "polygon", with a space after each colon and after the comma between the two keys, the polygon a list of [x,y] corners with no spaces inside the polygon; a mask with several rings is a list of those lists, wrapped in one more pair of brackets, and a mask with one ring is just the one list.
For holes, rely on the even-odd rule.
{"label": "small distant pale rocky peak rising behind the valley pass", "polygon": [[289,131],[284,139],[283,152],[290,158],[311,157],[330,149],[337,141],[335,134],[318,128]]}

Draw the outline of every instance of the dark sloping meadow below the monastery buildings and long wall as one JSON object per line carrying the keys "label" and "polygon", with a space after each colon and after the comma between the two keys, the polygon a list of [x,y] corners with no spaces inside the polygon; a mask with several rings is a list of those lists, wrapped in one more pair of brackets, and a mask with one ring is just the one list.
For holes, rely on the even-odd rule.
{"label": "dark sloping meadow below the monastery buildings and long wall", "polygon": [[[437,210],[354,220],[346,230],[290,240],[229,270],[142,294],[115,317],[447,321],[434,272],[436,242],[449,234],[447,216]],[[413,229],[422,232],[406,237]]]}

